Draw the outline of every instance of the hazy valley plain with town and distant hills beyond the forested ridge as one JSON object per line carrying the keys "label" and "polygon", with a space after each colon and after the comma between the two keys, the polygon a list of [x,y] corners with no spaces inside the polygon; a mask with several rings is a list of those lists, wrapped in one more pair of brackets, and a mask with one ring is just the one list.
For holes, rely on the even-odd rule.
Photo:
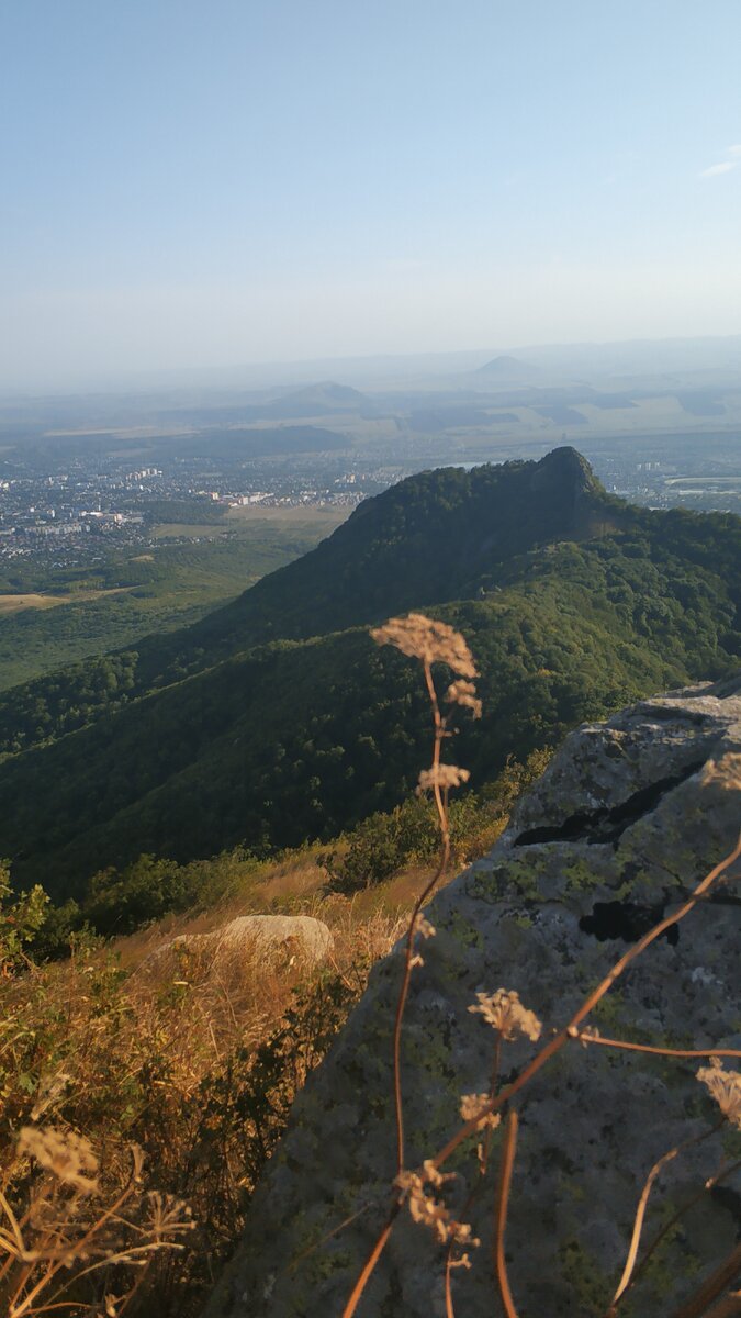
{"label": "hazy valley plain with town and distant hills beyond the forested ridge", "polygon": [[[737,339],[668,340],[5,398],[0,685],[195,621],[438,465],[571,443],[632,502],[740,511],[740,361]],[[336,378],[306,382],[319,366]]]}

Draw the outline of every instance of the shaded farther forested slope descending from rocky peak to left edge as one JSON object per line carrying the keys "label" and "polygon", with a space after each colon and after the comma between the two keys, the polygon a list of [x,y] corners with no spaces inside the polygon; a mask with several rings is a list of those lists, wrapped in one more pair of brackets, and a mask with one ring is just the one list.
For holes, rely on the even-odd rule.
{"label": "shaded farther forested slope descending from rocky peak to left edge", "polygon": [[533,546],[633,522],[571,448],[541,463],[425,472],[367,500],[316,550],[202,623],[17,687],[0,699],[0,751],[47,741],[256,645],[471,597],[481,576]]}

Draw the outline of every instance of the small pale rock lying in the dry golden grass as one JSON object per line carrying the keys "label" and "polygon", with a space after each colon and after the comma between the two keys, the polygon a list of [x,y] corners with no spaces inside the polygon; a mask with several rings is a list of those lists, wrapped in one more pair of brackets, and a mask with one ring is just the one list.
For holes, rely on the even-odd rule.
{"label": "small pale rock lying in the dry golden grass", "polygon": [[331,931],[323,920],[307,915],[241,915],[211,933],[185,933],[158,948],[149,958],[161,962],[179,952],[196,953],[219,963],[241,953],[272,961],[298,957],[312,965],[332,950]]}

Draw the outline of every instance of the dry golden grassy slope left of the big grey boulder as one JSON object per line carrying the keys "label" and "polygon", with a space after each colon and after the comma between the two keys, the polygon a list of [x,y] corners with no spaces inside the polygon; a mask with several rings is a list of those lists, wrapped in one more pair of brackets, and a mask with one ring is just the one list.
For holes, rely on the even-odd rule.
{"label": "dry golden grassy slope left of the big grey boulder", "polygon": [[[0,982],[0,1185],[24,1230],[36,1202],[51,1205],[46,1218],[57,1222],[70,1264],[59,1272],[44,1263],[49,1242],[41,1248],[34,1238],[41,1261],[24,1289],[21,1264],[1,1252],[0,1223],[3,1313],[42,1313],[47,1294],[54,1302],[62,1296],[73,1318],[198,1313],[239,1239],[252,1186],[297,1089],[363,991],[370,965],[405,927],[403,912],[378,895],[373,902],[324,896],[324,882],[311,858],[289,858],[251,876],[239,898],[215,911],[165,920],[108,948],[82,944],[67,962],[29,963]],[[260,912],[323,920],[334,934],[330,958],[310,967],[297,957],[266,961],[249,948],[215,956],[212,946],[198,945],[157,954],[173,938]],[[24,1128],[40,1140],[58,1132],[62,1141],[90,1141],[95,1198],[73,1211],[69,1189],[18,1149]],[[87,1238],[105,1206],[119,1201],[120,1230],[105,1218],[94,1231],[100,1265],[90,1271],[91,1249],[79,1247],[78,1228],[84,1226]],[[154,1249],[146,1235],[154,1202],[187,1203],[193,1231],[160,1231]],[[132,1256],[145,1240],[146,1252]],[[113,1260],[107,1268],[105,1256]],[[36,1292],[38,1268],[49,1277]],[[40,1307],[18,1307],[32,1292]]]}

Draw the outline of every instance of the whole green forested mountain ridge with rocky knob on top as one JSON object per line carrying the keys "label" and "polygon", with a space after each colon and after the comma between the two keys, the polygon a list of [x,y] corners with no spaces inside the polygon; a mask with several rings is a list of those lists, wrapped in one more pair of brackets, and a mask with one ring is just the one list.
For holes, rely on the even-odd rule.
{"label": "whole green forested mountain ridge with rocky knob on top", "polygon": [[285,846],[392,807],[429,739],[418,673],[365,630],[392,613],[467,635],[485,713],[456,758],[480,786],[738,667],[740,605],[737,518],[633,509],[574,449],[411,477],[195,626],[9,693],[5,747],[38,745],[0,764],[0,854],[63,896],[141,851]]}

